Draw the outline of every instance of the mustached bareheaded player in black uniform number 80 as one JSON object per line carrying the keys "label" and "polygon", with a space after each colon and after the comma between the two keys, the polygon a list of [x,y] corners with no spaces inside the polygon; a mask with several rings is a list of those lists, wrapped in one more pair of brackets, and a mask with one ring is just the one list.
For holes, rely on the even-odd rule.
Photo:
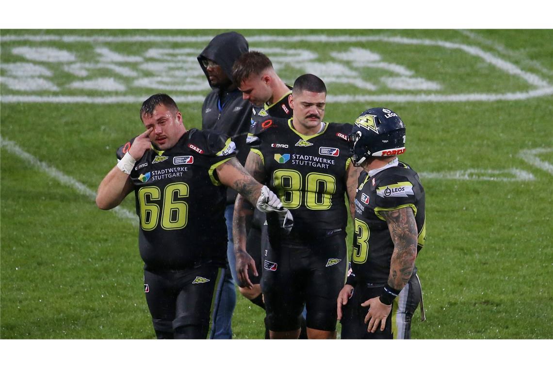
{"label": "mustached bareheaded player in black uniform number 80", "polygon": [[[248,137],[247,170],[277,193],[296,224],[285,234],[278,217],[267,216],[261,285],[270,337],[298,338],[305,306],[308,337],[335,338],[335,301],[347,268],[345,194],[352,211],[359,173],[348,155],[351,125],[322,121],[326,87],[312,74],[296,79],[290,107],[293,118],[265,120]],[[242,201],[238,196],[234,205],[236,265],[238,279],[253,287]]]}

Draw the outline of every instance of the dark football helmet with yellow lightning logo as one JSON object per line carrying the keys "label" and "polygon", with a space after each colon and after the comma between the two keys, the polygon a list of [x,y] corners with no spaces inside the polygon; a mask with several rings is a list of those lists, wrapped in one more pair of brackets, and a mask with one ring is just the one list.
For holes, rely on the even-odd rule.
{"label": "dark football helmet with yellow lightning logo", "polygon": [[405,124],[392,110],[368,109],[355,121],[348,141],[355,166],[368,157],[395,156],[405,152]]}

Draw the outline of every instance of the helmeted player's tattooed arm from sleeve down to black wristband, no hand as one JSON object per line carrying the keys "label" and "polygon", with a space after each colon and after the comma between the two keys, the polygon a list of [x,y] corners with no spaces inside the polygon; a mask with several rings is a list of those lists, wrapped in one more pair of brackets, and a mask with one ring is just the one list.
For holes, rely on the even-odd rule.
{"label": "helmeted player's tattooed arm from sleeve down to black wristband, no hand", "polygon": [[411,278],[415,266],[417,246],[415,216],[410,207],[381,213],[388,223],[390,236],[394,242],[388,285],[401,290]]}

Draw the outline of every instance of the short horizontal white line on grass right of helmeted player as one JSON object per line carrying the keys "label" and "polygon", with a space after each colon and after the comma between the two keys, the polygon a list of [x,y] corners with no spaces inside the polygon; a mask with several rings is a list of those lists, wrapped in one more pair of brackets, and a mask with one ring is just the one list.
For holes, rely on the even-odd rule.
{"label": "short horizontal white line on grass right of helmeted player", "polygon": [[[505,175],[505,176],[503,176]],[[468,169],[441,173],[419,173],[422,179],[491,180],[493,182],[531,182],[531,173],[520,169],[481,170]]]}

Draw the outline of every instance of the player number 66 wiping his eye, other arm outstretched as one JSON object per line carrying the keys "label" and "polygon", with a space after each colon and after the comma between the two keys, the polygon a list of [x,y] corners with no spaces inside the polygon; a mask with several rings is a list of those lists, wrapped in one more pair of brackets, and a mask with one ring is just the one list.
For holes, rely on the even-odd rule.
{"label": "player number 66 wiping his eye, other arm outstretched", "polygon": [[156,337],[212,337],[227,262],[226,187],[261,211],[282,210],[281,204],[239,164],[230,138],[186,130],[168,95],[145,100],[140,119],[146,130],[119,148],[96,204],[112,209],[134,191]]}

